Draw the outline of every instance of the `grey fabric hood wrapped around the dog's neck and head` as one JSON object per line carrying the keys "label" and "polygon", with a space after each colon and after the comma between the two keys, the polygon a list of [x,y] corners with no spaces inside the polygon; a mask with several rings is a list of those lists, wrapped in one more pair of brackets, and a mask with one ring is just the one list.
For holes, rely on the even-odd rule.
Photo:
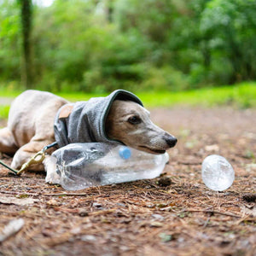
{"label": "grey fabric hood wrapped around the dog's neck and head", "polygon": [[55,117],[55,140],[59,147],[69,143],[121,143],[107,137],[105,122],[114,100],[143,102],[127,90],[114,90],[109,96],[91,98],[88,102],[62,106]]}

